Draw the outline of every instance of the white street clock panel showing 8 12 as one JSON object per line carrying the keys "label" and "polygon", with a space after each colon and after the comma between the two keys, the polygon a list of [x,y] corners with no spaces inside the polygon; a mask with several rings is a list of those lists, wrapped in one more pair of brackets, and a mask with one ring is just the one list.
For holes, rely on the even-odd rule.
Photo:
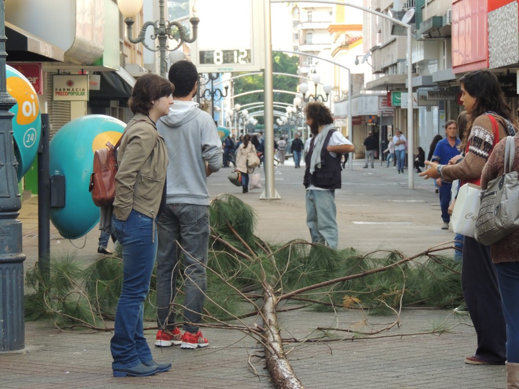
{"label": "white street clock panel showing 8 12", "polygon": [[262,0],[189,0],[200,24],[191,46],[199,73],[257,72],[265,68]]}

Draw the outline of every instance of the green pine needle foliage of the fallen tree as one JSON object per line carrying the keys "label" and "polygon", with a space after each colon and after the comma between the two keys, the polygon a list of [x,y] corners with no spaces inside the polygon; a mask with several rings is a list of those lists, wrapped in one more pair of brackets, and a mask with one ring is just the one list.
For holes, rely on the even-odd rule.
{"label": "green pine needle foliage of the fallen tree", "polygon": [[[460,263],[451,258],[432,252],[412,258],[393,251],[363,255],[302,240],[272,245],[254,235],[256,219],[254,210],[235,196],[222,195],[211,203],[207,322],[257,314],[266,284],[279,299],[316,310],[390,314],[405,306],[450,308],[462,301]],[[27,272],[26,284],[34,290],[25,298],[27,320],[97,328],[114,318],[122,286],[120,258],[101,257],[85,269],[69,254],[50,263],[48,282],[37,266]],[[155,280],[145,302],[145,317],[152,321]],[[182,269],[177,288],[174,309],[182,313]]]}

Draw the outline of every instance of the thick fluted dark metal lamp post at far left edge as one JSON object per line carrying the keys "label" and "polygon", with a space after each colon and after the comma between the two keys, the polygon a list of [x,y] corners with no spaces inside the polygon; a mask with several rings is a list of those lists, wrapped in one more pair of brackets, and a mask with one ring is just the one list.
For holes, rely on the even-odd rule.
{"label": "thick fluted dark metal lamp post at far left edge", "polygon": [[0,0],[0,351],[24,348],[22,207],[9,109],[16,104],[7,93],[5,0]]}

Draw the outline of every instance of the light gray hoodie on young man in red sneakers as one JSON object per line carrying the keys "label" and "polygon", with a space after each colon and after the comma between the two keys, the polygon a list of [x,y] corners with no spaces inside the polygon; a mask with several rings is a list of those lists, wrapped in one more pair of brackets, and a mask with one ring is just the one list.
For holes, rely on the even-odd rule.
{"label": "light gray hoodie on young man in red sneakers", "polygon": [[222,167],[222,141],[214,120],[192,101],[174,100],[157,122],[168,151],[167,204],[209,205],[206,161],[212,172]]}

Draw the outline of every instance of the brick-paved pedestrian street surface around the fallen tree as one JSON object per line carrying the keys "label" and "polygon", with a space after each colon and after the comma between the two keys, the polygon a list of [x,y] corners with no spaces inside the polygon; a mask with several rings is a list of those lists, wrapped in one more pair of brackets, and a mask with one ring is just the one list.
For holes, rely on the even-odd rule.
{"label": "brick-paved pedestrian street surface around the fallen tree", "polygon": [[[362,252],[377,248],[400,249],[411,255],[427,247],[452,240],[453,234],[440,229],[440,207],[432,182],[415,176],[415,189],[407,189],[406,174],[376,165],[344,171],[343,189],[337,191],[337,213],[341,247]],[[210,177],[212,196],[230,192],[250,203],[259,218],[257,234],[284,242],[309,239],[305,226],[303,169],[290,162],[275,169],[280,200],[259,200],[261,190],[246,195],[225,178],[228,169]],[[23,223],[25,268],[37,258],[36,198],[25,201]],[[76,242],[63,240],[51,229],[51,252],[73,252],[85,262],[98,257],[98,231]],[[83,246],[84,248],[76,248]],[[394,321],[393,316],[368,316],[356,310],[335,313],[293,311],[279,314],[284,337],[313,336],[318,326],[376,330]],[[250,323],[254,318],[250,319]],[[421,334],[438,323],[453,328],[441,335]],[[154,325],[154,323],[149,323]],[[210,340],[205,350],[177,348],[152,352],[157,360],[169,360],[173,369],[147,378],[114,378],[111,374],[110,333],[60,332],[42,322],[25,323],[25,349],[0,353],[0,387],[34,388],[272,388],[264,370],[262,350],[241,332],[204,329]],[[343,332],[336,332],[336,334]],[[155,331],[147,337],[153,344]],[[391,336],[391,337],[388,337]],[[393,327],[377,339],[357,339],[317,344],[289,344],[289,358],[298,378],[307,388],[346,387],[381,389],[504,388],[504,366],[472,366],[463,358],[472,355],[475,332],[467,316],[446,310],[405,309],[400,327]],[[255,376],[250,364],[258,376]]]}

